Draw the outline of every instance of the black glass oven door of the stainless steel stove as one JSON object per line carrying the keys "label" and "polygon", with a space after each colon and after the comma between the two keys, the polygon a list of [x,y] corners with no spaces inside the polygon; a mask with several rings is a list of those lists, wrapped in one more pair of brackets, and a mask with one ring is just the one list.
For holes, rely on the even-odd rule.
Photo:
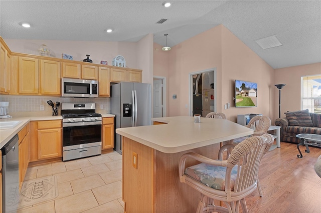
{"label": "black glass oven door of the stainless steel stove", "polygon": [[[87,125],[86,123],[91,124]],[[63,147],[85,143],[101,142],[101,121],[98,122],[100,124],[93,123],[95,122],[64,123],[62,134]]]}

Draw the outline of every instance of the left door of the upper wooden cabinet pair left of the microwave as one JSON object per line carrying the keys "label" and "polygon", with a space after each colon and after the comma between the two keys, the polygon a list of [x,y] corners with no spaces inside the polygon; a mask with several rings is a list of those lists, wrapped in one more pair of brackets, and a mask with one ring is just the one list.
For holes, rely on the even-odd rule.
{"label": "left door of the upper wooden cabinet pair left of the microwave", "polygon": [[19,93],[38,94],[38,59],[19,57]]}

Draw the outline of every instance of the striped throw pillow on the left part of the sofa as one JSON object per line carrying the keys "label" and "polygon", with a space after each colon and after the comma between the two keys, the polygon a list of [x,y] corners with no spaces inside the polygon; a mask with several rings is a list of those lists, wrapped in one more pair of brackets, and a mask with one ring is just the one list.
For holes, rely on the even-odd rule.
{"label": "striped throw pillow on the left part of the sofa", "polygon": [[289,125],[313,126],[309,110],[287,111],[284,112]]}

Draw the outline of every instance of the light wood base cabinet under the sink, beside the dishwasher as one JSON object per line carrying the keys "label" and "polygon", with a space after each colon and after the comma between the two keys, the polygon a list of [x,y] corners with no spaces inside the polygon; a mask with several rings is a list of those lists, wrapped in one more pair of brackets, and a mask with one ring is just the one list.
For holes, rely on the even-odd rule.
{"label": "light wood base cabinet under the sink, beside the dishwasher", "polygon": [[29,123],[18,132],[19,137],[19,189],[22,187],[29,164]]}

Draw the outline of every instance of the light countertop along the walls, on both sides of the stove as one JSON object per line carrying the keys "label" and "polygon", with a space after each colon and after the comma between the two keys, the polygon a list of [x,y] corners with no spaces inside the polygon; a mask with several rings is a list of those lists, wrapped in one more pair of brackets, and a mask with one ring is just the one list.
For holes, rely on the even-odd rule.
{"label": "light countertop along the walls, on both sides of the stove", "polygon": [[[102,117],[114,117],[114,114],[101,114]],[[0,148],[2,148],[11,138],[13,138],[29,121],[33,120],[62,120],[62,116],[32,116],[32,117],[11,117],[1,118],[2,121],[21,121],[13,128],[0,130]]]}

